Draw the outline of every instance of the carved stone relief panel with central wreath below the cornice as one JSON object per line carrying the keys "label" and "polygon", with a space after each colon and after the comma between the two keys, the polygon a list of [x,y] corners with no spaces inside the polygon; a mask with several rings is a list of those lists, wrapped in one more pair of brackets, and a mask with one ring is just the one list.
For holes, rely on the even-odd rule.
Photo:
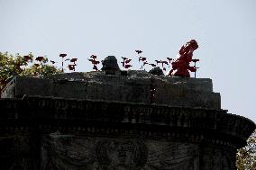
{"label": "carved stone relief panel with central wreath below the cornice", "polygon": [[42,137],[42,169],[196,170],[193,144],[157,140],[84,137],[51,133]]}

